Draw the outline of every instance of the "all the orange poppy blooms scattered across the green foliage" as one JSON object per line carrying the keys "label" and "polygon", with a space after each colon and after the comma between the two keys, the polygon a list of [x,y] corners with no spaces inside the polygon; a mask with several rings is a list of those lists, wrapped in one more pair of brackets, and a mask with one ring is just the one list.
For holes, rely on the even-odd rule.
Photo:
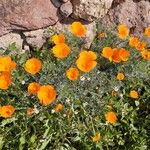
{"label": "all the orange poppy blooms scattered across the green foliage", "polygon": [[[87,33],[86,27],[80,22],[73,22],[70,26],[70,31],[77,37],[84,37]],[[150,27],[145,29],[145,36],[150,36]],[[99,37],[105,37],[105,33],[100,33]],[[118,26],[118,36],[121,39],[126,39],[129,36],[129,29],[125,25]],[[52,52],[55,57],[63,59],[66,58],[70,52],[70,47],[65,43],[64,34],[56,34],[51,38],[52,42],[55,46],[52,48]],[[150,51],[146,49],[146,42],[139,41],[136,37],[129,38],[129,45],[138,49],[143,58],[150,60]],[[107,58],[109,61],[113,61],[115,63],[124,62],[129,59],[130,52],[124,48],[111,48],[104,47],[102,50],[102,56]],[[76,60],[77,68],[82,72],[90,72],[97,65],[96,62],[97,55],[92,50],[83,50],[79,54],[79,57]],[[12,82],[11,71],[16,67],[16,63],[9,56],[0,56],[0,89],[6,90],[9,88]],[[69,80],[74,81],[77,80],[80,72],[76,67],[70,67],[66,71],[66,76]],[[42,62],[37,58],[30,58],[26,61],[24,65],[24,69],[26,72],[31,75],[35,75],[39,73],[42,69]],[[119,81],[124,80],[124,73],[118,73],[116,79]],[[55,99],[57,92],[52,85],[40,85],[39,83],[32,82],[28,85],[28,93],[36,95],[39,99],[39,102],[47,106],[51,104]],[[116,95],[116,93],[115,93]],[[136,90],[130,91],[130,97],[133,99],[138,99],[139,94]],[[57,104],[55,106],[55,111],[62,110],[63,105]],[[11,117],[14,113],[15,108],[12,105],[6,105],[0,107],[0,115],[4,118]],[[28,108],[27,114],[32,114],[33,109]],[[114,112],[108,112],[105,115],[105,119],[108,123],[114,124],[117,121],[117,116]],[[100,139],[100,134],[96,133],[95,137],[93,137],[93,142],[98,141]]]}

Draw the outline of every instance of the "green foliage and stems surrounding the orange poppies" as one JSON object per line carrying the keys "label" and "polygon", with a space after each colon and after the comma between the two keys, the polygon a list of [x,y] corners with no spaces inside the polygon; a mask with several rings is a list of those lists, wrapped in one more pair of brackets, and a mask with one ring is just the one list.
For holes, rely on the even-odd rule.
{"label": "green foliage and stems surrounding the orange poppies", "polygon": [[[146,150],[150,149],[150,62],[141,59],[128,41],[120,41],[114,34],[95,38],[91,49],[97,53],[97,66],[90,73],[80,73],[80,79],[70,81],[65,72],[75,66],[83,48],[81,39],[67,33],[66,41],[71,54],[65,59],[53,56],[53,43],[47,42],[42,49],[23,54],[12,44],[4,55],[10,55],[17,68],[13,71],[13,84],[0,90],[1,105],[11,104],[16,108],[12,118],[0,118],[0,149],[29,150]],[[115,64],[101,56],[105,46],[124,47],[131,53],[129,61]],[[13,53],[12,53],[13,51]],[[29,75],[24,70],[27,59],[42,60],[42,70]],[[118,72],[124,72],[125,80],[116,80]],[[84,79],[84,80],[82,80]],[[39,104],[36,96],[27,93],[31,82],[51,84],[57,90],[57,99],[50,106]],[[130,90],[139,93],[137,101],[130,98]],[[116,90],[117,96],[111,91]],[[60,112],[54,112],[55,104],[64,105]],[[108,107],[111,104],[112,108]],[[26,114],[33,107],[35,113]],[[117,123],[106,123],[105,113],[114,111]],[[100,141],[94,143],[91,137],[100,132]]]}

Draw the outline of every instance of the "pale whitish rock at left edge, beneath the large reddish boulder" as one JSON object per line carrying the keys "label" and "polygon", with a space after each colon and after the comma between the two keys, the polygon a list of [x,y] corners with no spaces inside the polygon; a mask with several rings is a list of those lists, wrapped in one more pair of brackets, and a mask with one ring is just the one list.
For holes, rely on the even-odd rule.
{"label": "pale whitish rock at left edge, beneath the large reddish boulder", "polygon": [[16,43],[16,47],[22,49],[23,39],[16,33],[9,33],[0,37],[0,48],[6,49],[12,43]]}

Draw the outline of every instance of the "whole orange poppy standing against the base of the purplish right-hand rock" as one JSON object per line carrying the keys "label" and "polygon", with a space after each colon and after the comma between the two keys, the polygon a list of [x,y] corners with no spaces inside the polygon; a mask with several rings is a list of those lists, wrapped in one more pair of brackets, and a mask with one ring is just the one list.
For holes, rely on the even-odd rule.
{"label": "whole orange poppy standing against the base of the purplish right-hand rock", "polygon": [[118,26],[118,36],[120,39],[126,39],[129,35],[129,29],[124,25],[121,24]]}

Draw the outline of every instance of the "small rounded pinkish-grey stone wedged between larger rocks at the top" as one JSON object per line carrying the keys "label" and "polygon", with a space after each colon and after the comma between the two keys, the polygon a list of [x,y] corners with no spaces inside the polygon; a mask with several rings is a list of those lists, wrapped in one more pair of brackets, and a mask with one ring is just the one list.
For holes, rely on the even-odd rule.
{"label": "small rounded pinkish-grey stone wedged between larger rocks at the top", "polygon": [[70,1],[64,3],[60,7],[60,12],[64,17],[69,17],[73,12],[72,3]]}

